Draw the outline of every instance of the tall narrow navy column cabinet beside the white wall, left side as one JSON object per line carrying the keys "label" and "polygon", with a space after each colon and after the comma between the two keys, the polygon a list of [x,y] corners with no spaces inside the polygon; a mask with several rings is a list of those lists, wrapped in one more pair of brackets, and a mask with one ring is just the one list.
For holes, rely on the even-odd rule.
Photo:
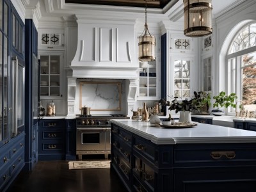
{"label": "tall narrow navy column cabinet beside the white wall, left side", "polygon": [[26,157],[25,169],[32,170],[38,161],[38,59],[37,59],[37,31],[32,19],[25,20],[25,132],[26,132]]}

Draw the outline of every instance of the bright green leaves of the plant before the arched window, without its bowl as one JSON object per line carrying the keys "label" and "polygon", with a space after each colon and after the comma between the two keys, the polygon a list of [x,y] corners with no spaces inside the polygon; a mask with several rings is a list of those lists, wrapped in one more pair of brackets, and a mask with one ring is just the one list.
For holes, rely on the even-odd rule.
{"label": "bright green leaves of the plant before the arched window, without its bowl", "polygon": [[236,93],[230,93],[230,95],[226,95],[225,92],[220,92],[219,95],[214,96],[213,99],[215,99],[213,104],[214,108],[228,108],[229,106],[236,108]]}

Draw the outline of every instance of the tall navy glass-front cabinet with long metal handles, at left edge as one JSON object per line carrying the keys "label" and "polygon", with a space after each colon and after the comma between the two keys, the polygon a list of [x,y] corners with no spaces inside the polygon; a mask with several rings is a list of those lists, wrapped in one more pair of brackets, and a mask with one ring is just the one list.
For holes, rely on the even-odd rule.
{"label": "tall navy glass-front cabinet with long metal handles, at left edge", "polygon": [[0,147],[24,131],[24,23],[10,10],[0,1]]}

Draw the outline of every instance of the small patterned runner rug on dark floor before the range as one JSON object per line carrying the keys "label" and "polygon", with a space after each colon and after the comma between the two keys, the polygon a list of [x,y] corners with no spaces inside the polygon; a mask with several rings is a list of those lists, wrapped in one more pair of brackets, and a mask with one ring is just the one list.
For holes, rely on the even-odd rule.
{"label": "small patterned runner rug on dark floor before the range", "polygon": [[68,168],[70,170],[110,168],[110,161],[69,161]]}

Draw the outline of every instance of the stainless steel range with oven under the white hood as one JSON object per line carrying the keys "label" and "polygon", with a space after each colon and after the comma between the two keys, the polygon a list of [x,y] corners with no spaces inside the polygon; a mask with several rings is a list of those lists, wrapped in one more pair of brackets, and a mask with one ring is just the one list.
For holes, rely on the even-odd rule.
{"label": "stainless steel range with oven under the white hood", "polygon": [[110,119],[129,118],[124,115],[79,115],[76,118],[76,154],[104,154],[108,159],[111,150]]}

